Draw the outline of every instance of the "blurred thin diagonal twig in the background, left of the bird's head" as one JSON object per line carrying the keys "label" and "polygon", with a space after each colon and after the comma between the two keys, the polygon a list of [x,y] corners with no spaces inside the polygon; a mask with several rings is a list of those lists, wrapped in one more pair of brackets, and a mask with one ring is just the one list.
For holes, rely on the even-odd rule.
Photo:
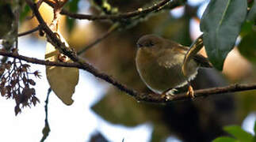
{"label": "blurred thin diagonal twig in the background, left of the bird's head", "polygon": [[86,47],[84,47],[82,50],[78,51],[78,54],[82,54],[84,53],[86,50],[89,50],[91,47],[94,47],[97,43],[100,43],[103,39],[107,38],[108,36],[110,36],[113,32],[117,31],[119,27],[119,23],[117,24],[113,24],[113,26],[111,26],[109,28],[109,30],[107,32],[104,33],[104,35],[100,36],[99,38],[97,38],[93,43],[88,44]]}

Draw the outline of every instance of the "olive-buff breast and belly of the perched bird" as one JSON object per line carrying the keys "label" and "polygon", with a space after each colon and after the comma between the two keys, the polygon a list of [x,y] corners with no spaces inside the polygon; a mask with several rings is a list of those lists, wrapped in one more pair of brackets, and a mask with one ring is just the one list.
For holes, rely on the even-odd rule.
{"label": "olive-buff breast and belly of the perched bird", "polygon": [[[188,77],[181,72],[184,56],[166,56],[159,59],[147,51],[138,50],[136,54],[136,68],[143,82],[153,92],[161,94],[170,88],[178,88],[187,84]],[[197,69],[191,74],[195,76]]]}

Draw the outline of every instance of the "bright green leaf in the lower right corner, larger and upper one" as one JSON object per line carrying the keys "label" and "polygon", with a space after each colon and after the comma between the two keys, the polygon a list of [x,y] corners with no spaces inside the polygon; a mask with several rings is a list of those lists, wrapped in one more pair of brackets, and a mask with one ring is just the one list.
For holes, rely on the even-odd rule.
{"label": "bright green leaf in the lower right corner, larger and upper one", "polygon": [[232,136],[235,136],[235,138],[239,141],[252,141],[253,136],[250,133],[246,133],[240,126],[237,125],[231,125],[224,127],[224,130],[231,134]]}

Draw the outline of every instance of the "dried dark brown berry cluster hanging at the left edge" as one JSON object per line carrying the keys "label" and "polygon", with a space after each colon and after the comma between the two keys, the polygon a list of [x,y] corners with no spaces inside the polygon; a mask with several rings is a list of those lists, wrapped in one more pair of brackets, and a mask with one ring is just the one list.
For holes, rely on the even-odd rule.
{"label": "dried dark brown berry cluster hanging at the left edge", "polygon": [[21,108],[31,107],[33,104],[39,103],[36,98],[36,91],[32,86],[36,82],[29,75],[41,77],[39,71],[30,72],[30,65],[24,64],[20,59],[13,58],[13,61],[2,63],[0,65],[0,92],[6,99],[14,99],[16,106],[14,107],[15,114],[21,113]]}

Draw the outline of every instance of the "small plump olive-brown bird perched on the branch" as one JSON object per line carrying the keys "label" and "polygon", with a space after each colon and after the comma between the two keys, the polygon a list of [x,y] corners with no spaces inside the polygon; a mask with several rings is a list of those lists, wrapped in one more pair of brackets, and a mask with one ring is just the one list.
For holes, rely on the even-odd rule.
{"label": "small plump olive-brown bird perched on the branch", "polygon": [[[203,47],[203,42],[200,41],[200,46]],[[194,98],[190,81],[196,77],[197,69],[212,68],[208,58],[161,36],[145,35],[136,44],[136,69],[139,77],[147,88],[162,96],[171,97],[177,88],[189,84],[187,95]]]}

